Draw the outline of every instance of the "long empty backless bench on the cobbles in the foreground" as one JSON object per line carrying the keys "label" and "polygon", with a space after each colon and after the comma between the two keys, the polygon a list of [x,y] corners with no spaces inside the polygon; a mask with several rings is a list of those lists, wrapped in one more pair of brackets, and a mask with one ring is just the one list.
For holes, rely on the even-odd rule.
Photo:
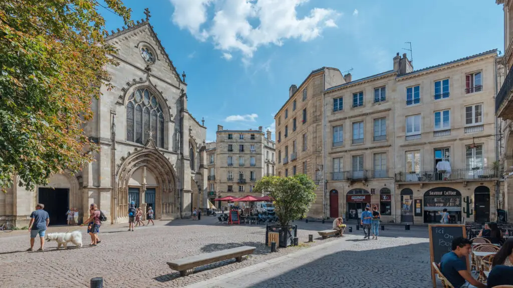
{"label": "long empty backless bench on the cobbles in the foreground", "polygon": [[195,267],[203,266],[206,264],[211,264],[231,258],[235,258],[237,262],[241,262],[243,256],[253,254],[255,249],[257,248],[252,246],[240,246],[237,248],[190,256],[167,262],[167,264],[172,270],[180,271],[180,276],[186,276],[187,270],[194,269]]}

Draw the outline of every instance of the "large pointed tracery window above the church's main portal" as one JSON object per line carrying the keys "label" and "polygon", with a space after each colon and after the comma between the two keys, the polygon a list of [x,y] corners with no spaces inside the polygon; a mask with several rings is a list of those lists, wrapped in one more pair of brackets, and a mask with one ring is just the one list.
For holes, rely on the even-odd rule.
{"label": "large pointed tracery window above the church's main portal", "polygon": [[155,95],[146,88],[135,90],[126,112],[127,141],[145,144],[151,131],[155,145],[164,148],[164,113]]}

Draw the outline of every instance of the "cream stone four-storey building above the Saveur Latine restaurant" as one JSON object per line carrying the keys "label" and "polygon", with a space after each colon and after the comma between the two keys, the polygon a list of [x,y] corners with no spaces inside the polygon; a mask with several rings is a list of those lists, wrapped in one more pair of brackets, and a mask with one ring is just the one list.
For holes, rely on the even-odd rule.
{"label": "cream stone four-storey building above the Saveur Latine restaurant", "polygon": [[[325,141],[311,158],[320,191],[309,216],[358,218],[371,204],[384,221],[439,222],[444,208],[455,222],[495,220],[496,58],[491,50],[413,70],[398,53],[392,70],[358,80],[348,74],[325,87],[322,124],[312,127]],[[279,124],[294,96],[277,114],[277,131],[290,125]],[[291,136],[278,143],[279,154],[293,146]],[[290,166],[277,169],[286,176]]]}

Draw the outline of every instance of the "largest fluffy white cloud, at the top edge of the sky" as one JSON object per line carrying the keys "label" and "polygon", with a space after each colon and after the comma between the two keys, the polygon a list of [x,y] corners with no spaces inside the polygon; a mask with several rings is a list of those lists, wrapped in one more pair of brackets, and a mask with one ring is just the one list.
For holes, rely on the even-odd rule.
{"label": "largest fluffy white cloud, at the top edge of the sky", "polygon": [[[326,27],[337,27],[334,19],[340,14],[331,9],[313,8],[298,18],[296,8],[308,1],[170,0],[172,20],[181,29],[200,40],[212,40],[223,52],[241,52],[244,58],[251,58],[260,46],[281,46],[290,38],[306,42],[320,36]],[[209,6],[215,11],[211,19]]]}

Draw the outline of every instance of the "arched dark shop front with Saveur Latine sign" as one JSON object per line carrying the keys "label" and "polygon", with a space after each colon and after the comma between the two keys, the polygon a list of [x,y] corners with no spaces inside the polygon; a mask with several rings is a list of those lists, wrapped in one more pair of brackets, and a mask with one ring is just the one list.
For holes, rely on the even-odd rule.
{"label": "arched dark shop front with Saveur Latine sign", "polygon": [[424,223],[440,223],[439,213],[447,209],[449,223],[461,223],[461,193],[450,187],[432,188],[424,193]]}

